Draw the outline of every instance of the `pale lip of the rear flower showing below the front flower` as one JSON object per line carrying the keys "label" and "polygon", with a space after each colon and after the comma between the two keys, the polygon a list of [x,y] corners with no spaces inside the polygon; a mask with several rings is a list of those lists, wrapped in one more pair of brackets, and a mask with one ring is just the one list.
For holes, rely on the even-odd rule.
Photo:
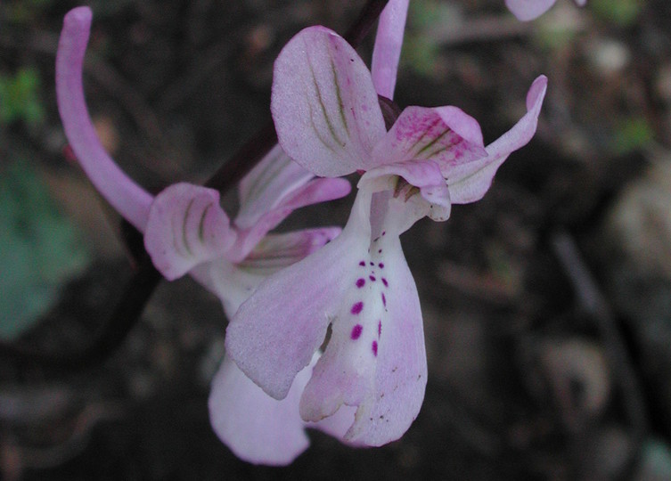
{"label": "pale lip of the rear flower showing below the front flower", "polygon": [[310,444],[299,415],[299,398],[311,367],[300,371],[288,395],[277,401],[225,356],[212,382],[209,419],[219,439],[241,460],[290,464]]}

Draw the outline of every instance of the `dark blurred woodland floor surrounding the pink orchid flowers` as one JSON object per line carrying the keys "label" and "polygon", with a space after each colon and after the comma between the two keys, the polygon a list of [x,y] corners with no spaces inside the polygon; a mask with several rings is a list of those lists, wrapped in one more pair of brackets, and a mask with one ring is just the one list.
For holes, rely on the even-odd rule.
{"label": "dark blurred woodland floor surrounding the pink orchid flowers", "polygon": [[[203,182],[269,119],[282,45],[311,24],[344,32],[363,4],[90,2],[103,143],[151,192]],[[0,4],[0,338],[45,351],[90,343],[134,272],[56,110],[77,5]],[[671,479],[671,4],[558,0],[521,23],[503,0],[411,2],[401,107],[459,106],[490,143],[542,73],[538,132],[485,199],[403,238],[430,378],[401,440],[357,450],[311,432],[290,467],[237,460],[207,412],[226,319],[184,278],[102,365],[56,374],[2,356],[0,478]],[[351,200],[282,229],[344,224]]]}

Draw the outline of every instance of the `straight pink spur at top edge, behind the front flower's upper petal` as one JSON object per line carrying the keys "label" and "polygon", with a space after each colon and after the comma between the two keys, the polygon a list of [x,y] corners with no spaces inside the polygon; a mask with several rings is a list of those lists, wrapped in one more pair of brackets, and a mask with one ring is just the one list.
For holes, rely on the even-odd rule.
{"label": "straight pink spur at top edge, behind the front flower's upper petal", "polygon": [[409,0],[389,0],[380,15],[372,49],[372,83],[378,94],[394,98]]}

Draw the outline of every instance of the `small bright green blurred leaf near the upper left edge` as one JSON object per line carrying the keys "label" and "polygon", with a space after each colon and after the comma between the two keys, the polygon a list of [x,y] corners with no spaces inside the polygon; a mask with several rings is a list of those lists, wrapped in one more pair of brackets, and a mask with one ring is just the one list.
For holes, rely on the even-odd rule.
{"label": "small bright green blurred leaf near the upper left edge", "polygon": [[45,118],[39,87],[37,69],[20,69],[13,77],[0,74],[0,124],[23,120],[29,126],[39,125]]}

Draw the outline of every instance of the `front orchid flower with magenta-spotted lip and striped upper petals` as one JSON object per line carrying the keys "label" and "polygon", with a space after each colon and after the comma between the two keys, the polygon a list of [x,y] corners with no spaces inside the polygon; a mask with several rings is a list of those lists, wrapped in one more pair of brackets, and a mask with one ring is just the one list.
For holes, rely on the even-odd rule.
{"label": "front orchid flower with magenta-spotted lip and striped upper petals", "polygon": [[331,327],[301,418],[356,407],[345,439],[377,446],[409,428],[427,381],[420,303],[399,236],[423,216],[446,220],[453,203],[482,198],[534,135],[547,79],[529,89],[527,114],[485,147],[478,122],[456,107],[409,107],[387,132],[375,78],[323,27],[302,30],[275,61],[271,110],[282,149],[315,175],[364,175],[340,236],[262,281],[225,343],[241,371],[282,399]]}

